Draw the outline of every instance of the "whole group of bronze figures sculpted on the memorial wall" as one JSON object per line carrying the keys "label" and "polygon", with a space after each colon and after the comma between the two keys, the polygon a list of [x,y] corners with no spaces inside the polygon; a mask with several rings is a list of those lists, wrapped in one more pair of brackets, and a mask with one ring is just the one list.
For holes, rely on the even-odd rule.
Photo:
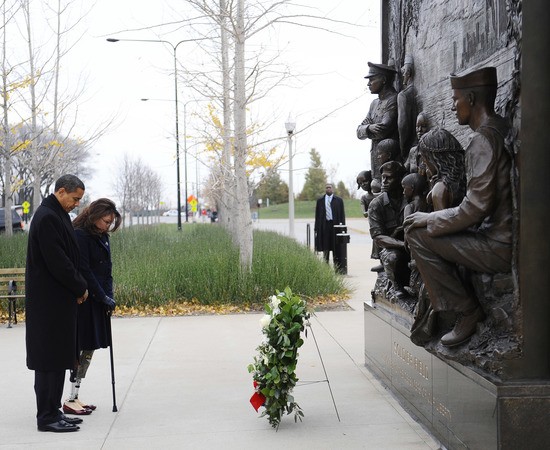
{"label": "whole group of bronze figures sculpted on the memorial wall", "polygon": [[[498,358],[488,355],[514,358],[521,348],[511,275],[513,154],[510,125],[495,112],[496,68],[447,76],[448,112],[470,129],[465,148],[444,128],[428,131],[429,111],[416,114],[412,58],[403,66],[397,103],[388,86],[396,71],[369,68],[369,87],[379,99],[357,135],[373,141],[373,170],[357,182],[367,192],[362,207],[371,257],[380,259],[373,299],[411,316],[416,345],[499,374]],[[406,145],[399,140],[405,135]],[[372,189],[377,179],[380,194]]]}

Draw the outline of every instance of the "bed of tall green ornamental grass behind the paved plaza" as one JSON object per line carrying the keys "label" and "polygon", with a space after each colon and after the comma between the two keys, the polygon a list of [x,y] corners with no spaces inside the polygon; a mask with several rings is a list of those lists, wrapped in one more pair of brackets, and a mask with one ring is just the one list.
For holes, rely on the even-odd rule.
{"label": "bed of tall green ornamental grass behind the paved plaza", "polygon": [[[289,286],[306,298],[343,294],[341,276],[309,249],[274,232],[254,232],[252,271],[220,226],[135,226],[111,236],[115,299],[130,308],[167,303],[263,304]],[[25,267],[27,234],[0,236],[0,267]]]}

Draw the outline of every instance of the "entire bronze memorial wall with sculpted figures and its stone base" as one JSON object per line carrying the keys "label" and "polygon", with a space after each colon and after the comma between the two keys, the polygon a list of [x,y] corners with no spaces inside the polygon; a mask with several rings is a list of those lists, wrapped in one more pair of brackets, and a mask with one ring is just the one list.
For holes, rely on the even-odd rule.
{"label": "entire bronze memorial wall with sculpted figures and its stone base", "polygon": [[[365,365],[449,449],[550,442],[547,6],[380,2],[378,98],[357,130],[373,143],[381,261],[363,304]],[[397,135],[370,134],[380,79],[397,92]]]}

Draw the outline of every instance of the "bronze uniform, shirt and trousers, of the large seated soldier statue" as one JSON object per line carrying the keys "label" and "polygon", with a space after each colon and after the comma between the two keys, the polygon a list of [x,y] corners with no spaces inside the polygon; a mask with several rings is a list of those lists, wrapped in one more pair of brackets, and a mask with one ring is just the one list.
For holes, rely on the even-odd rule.
{"label": "bronze uniform, shirt and trousers, of the large seated soldier statue", "polygon": [[511,156],[505,120],[495,115],[473,134],[465,152],[462,203],[430,213],[427,228],[407,240],[436,311],[466,312],[478,303],[459,277],[457,264],[484,273],[509,272],[512,261]]}

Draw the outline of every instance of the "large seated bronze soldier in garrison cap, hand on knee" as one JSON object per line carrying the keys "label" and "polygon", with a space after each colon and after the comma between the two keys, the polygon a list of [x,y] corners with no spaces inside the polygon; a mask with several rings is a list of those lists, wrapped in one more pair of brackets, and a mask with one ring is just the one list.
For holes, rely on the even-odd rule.
{"label": "large seated bronze soldier in garrison cap, hand on knee", "polygon": [[453,108],[460,125],[474,131],[465,150],[466,196],[454,208],[414,213],[404,221],[406,239],[435,311],[453,311],[457,321],[441,343],[469,340],[485,314],[465,288],[457,265],[476,272],[509,272],[512,261],[511,155],[509,127],[495,113],[494,67],[451,75]]}

